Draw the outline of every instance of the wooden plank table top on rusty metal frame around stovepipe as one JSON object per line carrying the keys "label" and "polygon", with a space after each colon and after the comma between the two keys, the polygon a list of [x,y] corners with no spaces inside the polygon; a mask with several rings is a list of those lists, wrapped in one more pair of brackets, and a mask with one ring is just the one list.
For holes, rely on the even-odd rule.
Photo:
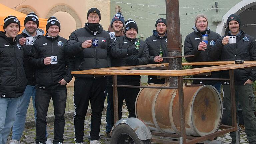
{"label": "wooden plank table top on rusty metal frame around stovepipe", "polygon": [[[256,61],[245,61],[243,64],[234,64],[234,61],[218,61],[218,62],[193,62],[182,63],[182,65],[213,65],[209,67],[185,69],[185,70],[164,70],[168,69],[168,63],[163,64],[148,64],[139,66],[123,66],[123,67],[110,67],[101,69],[91,69],[83,71],[73,71],[71,74],[90,74],[90,75],[113,75],[113,96],[114,96],[114,119],[118,120],[118,106],[117,106],[117,87],[124,87],[123,85],[117,85],[117,75],[156,75],[156,76],[175,76],[178,77],[178,87],[170,87],[170,89],[178,89],[179,91],[179,107],[180,107],[180,127],[181,136],[187,141],[183,141],[185,144],[195,144],[214,137],[223,135],[228,132],[237,131],[236,126],[236,108],[235,108],[235,94],[234,94],[234,69],[240,68],[253,68],[256,66]],[[139,70],[141,69],[141,70]],[[154,70],[152,70],[154,69]],[[229,70],[230,78],[230,91],[231,91],[231,115],[232,115],[232,127],[217,131],[215,133],[195,137],[194,139],[186,139],[185,130],[185,117],[184,117],[184,98],[183,98],[183,76],[196,75],[207,72]],[[143,86],[130,86],[130,87],[143,87]],[[164,136],[164,134],[159,134]],[[153,138],[152,140],[157,140]],[[174,142],[170,142],[174,143]],[[177,142],[175,142],[177,143]]]}

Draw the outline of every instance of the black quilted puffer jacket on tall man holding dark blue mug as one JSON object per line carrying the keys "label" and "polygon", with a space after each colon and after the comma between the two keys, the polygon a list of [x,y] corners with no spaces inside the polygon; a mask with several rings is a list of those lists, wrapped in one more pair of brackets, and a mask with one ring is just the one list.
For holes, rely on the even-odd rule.
{"label": "black quilted puffer jacket on tall man holding dark blue mug", "polygon": [[[91,39],[98,39],[99,46],[81,47],[84,41]],[[110,61],[110,43],[109,33],[103,30],[101,25],[97,34],[94,35],[85,23],[84,28],[71,33],[65,45],[65,52],[75,57],[74,71],[106,68],[108,67],[108,61]],[[93,78],[93,75],[75,74],[74,77]]]}

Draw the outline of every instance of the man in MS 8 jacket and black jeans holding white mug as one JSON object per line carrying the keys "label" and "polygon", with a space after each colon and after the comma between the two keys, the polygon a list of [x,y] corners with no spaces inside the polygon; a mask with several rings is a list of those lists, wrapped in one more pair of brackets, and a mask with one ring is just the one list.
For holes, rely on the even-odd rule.
{"label": "man in MS 8 jacket and black jeans holding white mug", "polygon": [[46,30],[46,36],[34,42],[28,58],[28,63],[36,69],[36,144],[47,141],[46,116],[51,98],[55,117],[53,143],[60,144],[64,140],[66,85],[72,80],[73,65],[64,52],[67,40],[59,36],[60,23],[56,17],[47,20]]}

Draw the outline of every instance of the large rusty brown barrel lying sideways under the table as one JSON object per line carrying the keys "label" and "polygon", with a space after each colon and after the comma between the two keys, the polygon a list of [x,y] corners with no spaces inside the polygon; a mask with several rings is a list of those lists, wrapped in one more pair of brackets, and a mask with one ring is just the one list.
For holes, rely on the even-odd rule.
{"label": "large rusty brown barrel lying sideways under the table", "polygon": [[[148,84],[153,87],[168,87]],[[186,134],[204,136],[218,130],[222,117],[222,101],[211,85],[183,87]],[[136,117],[150,130],[180,134],[179,96],[177,89],[140,90],[135,103]]]}

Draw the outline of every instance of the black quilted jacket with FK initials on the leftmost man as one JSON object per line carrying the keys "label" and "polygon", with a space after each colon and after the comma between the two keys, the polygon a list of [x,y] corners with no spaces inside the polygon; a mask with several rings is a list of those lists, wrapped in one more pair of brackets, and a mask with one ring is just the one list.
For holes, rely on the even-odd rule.
{"label": "black quilted jacket with FK initials on the leftmost man", "polygon": [[27,79],[23,68],[24,49],[16,39],[0,32],[0,97],[18,98],[23,95]]}

